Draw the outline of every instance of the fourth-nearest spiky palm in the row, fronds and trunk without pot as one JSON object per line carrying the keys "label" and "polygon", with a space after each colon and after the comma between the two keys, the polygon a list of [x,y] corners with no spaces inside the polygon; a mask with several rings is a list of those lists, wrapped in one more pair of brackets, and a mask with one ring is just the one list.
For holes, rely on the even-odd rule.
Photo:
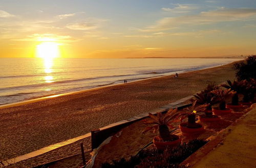
{"label": "fourth-nearest spiky palm in the row, fronds and trunk without pot", "polygon": [[225,99],[236,94],[236,92],[231,91],[231,89],[226,89],[226,90],[218,89],[218,90],[211,91],[211,93],[213,93],[214,95],[216,95],[218,97],[218,101],[220,102],[219,107],[221,110],[226,109]]}

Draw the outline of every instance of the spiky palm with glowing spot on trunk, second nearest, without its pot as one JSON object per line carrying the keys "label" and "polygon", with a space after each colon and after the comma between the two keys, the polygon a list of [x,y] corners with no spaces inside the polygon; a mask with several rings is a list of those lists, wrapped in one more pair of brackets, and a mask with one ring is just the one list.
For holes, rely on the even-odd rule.
{"label": "spiky palm with glowing spot on trunk, second nearest, without its pot", "polygon": [[198,105],[197,100],[194,101],[194,103],[190,106],[184,109],[183,113],[180,113],[181,119],[180,121],[183,121],[187,117],[187,127],[188,128],[194,128],[196,123],[196,114],[203,112],[206,110],[208,104],[202,104]]}

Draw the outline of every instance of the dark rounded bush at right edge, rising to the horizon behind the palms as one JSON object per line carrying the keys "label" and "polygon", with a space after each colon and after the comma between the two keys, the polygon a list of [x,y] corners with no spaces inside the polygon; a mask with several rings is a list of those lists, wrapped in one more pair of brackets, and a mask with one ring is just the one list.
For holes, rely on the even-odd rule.
{"label": "dark rounded bush at right edge, rising to the horizon behind the palms", "polygon": [[236,76],[238,80],[246,79],[247,81],[249,81],[250,78],[255,79],[255,67],[256,55],[250,55],[245,59],[245,61],[234,64],[234,69],[236,69]]}

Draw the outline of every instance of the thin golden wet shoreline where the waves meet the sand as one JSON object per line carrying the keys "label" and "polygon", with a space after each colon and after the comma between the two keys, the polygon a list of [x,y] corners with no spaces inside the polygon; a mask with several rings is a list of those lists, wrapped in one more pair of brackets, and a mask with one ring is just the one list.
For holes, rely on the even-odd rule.
{"label": "thin golden wet shoreline where the waves meet the sand", "polygon": [[[233,63],[234,62],[229,63],[229,64],[233,64]],[[224,65],[228,65],[228,64],[224,64]],[[217,66],[213,66],[213,67],[207,67],[207,68],[191,70],[191,71],[183,71],[180,74],[187,73],[187,72],[194,72],[194,71],[204,70],[204,69],[209,69],[209,68],[215,68],[215,67],[220,67],[220,66],[223,66],[223,65],[217,65]],[[143,80],[148,80],[148,79],[154,79],[154,78],[160,78],[160,77],[165,77],[165,76],[171,76],[171,75],[174,75],[174,74],[175,73],[168,74],[168,75],[155,76],[155,77],[148,77],[148,78],[144,78],[144,79],[138,79],[138,80],[130,81],[128,83],[143,81]],[[24,101],[18,101],[18,102],[9,103],[9,104],[2,104],[2,105],[0,105],[0,109],[19,106],[19,105],[24,105],[24,104],[29,104],[29,103],[34,103],[34,102],[38,102],[38,101],[41,101],[41,100],[47,100],[47,99],[55,98],[55,97],[61,97],[61,96],[84,93],[84,92],[88,92],[88,91],[93,91],[93,90],[98,90],[98,89],[102,89],[102,88],[106,88],[106,87],[113,87],[113,86],[118,86],[118,85],[123,85],[123,84],[124,83],[116,83],[116,84],[113,84],[113,85],[105,85],[105,86],[101,86],[101,87],[95,87],[95,88],[90,88],[90,89],[85,89],[85,90],[80,90],[80,91],[61,93],[61,94],[53,94],[53,95],[46,95],[46,96],[42,96],[42,97],[35,97],[35,98],[27,99],[27,100],[24,100]]]}

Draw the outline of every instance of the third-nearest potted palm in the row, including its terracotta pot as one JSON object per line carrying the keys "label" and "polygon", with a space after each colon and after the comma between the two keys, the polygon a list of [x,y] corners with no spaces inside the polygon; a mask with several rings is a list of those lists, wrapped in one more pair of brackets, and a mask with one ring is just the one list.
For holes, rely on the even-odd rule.
{"label": "third-nearest potted palm in the row, including its terracotta pot", "polygon": [[199,115],[201,122],[218,121],[220,118],[217,115],[212,114],[211,106],[217,102],[217,97],[211,93],[212,90],[219,89],[219,86],[209,84],[203,91],[194,95],[198,104],[207,104],[204,114]]}

